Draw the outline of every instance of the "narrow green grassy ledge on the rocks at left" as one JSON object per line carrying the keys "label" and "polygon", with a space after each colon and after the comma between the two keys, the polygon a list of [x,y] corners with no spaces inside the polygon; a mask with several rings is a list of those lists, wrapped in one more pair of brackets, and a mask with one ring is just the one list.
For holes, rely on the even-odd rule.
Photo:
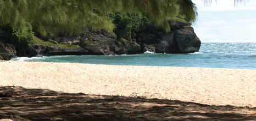
{"label": "narrow green grassy ledge on the rocks at left", "polygon": [[34,37],[33,41],[28,44],[29,46],[34,46],[34,45],[43,45],[43,46],[49,46],[49,47],[62,47],[66,49],[79,49],[79,45],[74,45],[74,44],[67,44],[67,43],[58,43],[55,40],[49,40],[49,41],[44,41],[41,40],[37,37]]}

